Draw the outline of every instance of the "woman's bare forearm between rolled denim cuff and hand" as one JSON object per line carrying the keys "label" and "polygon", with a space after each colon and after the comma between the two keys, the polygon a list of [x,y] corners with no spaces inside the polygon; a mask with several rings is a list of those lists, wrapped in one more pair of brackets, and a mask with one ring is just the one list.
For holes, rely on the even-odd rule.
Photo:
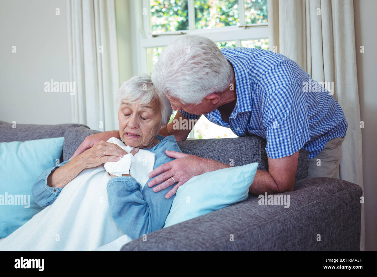
{"label": "woman's bare forearm between rolled denim cuff and hand", "polygon": [[47,185],[53,188],[63,188],[84,169],[83,165],[73,158],[48,176]]}

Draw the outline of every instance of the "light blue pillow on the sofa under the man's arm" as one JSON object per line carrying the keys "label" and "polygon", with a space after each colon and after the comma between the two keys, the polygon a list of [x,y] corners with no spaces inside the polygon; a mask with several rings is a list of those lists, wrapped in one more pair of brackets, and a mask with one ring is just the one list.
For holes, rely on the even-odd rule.
{"label": "light blue pillow on the sofa under the man's arm", "polygon": [[258,163],[195,176],[178,188],[164,228],[247,199]]}

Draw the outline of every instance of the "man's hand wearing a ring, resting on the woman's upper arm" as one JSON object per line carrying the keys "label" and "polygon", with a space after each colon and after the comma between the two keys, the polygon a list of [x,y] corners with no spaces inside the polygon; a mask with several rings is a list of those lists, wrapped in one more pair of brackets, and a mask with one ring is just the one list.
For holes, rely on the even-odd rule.
{"label": "man's hand wearing a ring, resting on the woman's upper arm", "polygon": [[161,175],[150,181],[148,183],[148,187],[153,187],[163,182],[162,184],[153,188],[154,192],[158,192],[173,185],[174,183],[178,183],[165,195],[166,199],[172,197],[181,185],[189,181],[189,179],[193,178],[194,176],[198,176],[208,171],[230,167],[230,165],[211,159],[201,158],[195,155],[183,154],[169,150],[166,150],[165,153],[170,158],[175,158],[176,160],[160,165],[151,171],[149,173],[149,178],[153,178],[158,174]]}

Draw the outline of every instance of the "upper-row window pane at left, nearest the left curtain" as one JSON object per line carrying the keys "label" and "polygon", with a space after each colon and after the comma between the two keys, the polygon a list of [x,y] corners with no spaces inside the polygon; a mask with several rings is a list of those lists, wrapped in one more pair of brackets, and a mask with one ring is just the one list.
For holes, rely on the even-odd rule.
{"label": "upper-row window pane at left, nearest the left curtain", "polygon": [[189,28],[187,0],[150,0],[152,34]]}

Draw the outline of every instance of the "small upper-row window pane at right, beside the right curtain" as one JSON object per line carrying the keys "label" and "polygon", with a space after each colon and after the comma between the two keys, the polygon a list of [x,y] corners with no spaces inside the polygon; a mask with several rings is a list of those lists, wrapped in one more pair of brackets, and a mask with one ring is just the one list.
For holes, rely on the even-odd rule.
{"label": "small upper-row window pane at right, beside the right curtain", "polygon": [[267,23],[267,0],[245,0],[245,23]]}

